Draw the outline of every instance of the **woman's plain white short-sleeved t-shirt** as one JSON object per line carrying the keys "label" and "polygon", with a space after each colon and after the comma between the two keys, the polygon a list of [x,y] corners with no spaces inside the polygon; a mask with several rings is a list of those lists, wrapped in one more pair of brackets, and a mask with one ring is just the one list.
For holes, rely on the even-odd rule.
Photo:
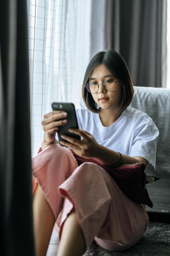
{"label": "woman's plain white short-sleeved t-shirt", "polygon": [[87,108],[76,109],[76,116],[79,129],[93,135],[97,143],[128,156],[141,156],[148,161],[145,172],[155,171],[159,130],[146,113],[127,107],[109,127],[102,125],[99,113]]}

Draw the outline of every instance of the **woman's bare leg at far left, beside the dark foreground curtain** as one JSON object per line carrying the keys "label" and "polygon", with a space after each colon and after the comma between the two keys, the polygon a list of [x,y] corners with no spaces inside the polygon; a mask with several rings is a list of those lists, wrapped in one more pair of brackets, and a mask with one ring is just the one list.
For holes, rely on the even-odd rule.
{"label": "woman's bare leg at far left, beside the dark foreground curtain", "polygon": [[36,256],[45,256],[54,228],[55,218],[40,185],[33,195],[33,225]]}

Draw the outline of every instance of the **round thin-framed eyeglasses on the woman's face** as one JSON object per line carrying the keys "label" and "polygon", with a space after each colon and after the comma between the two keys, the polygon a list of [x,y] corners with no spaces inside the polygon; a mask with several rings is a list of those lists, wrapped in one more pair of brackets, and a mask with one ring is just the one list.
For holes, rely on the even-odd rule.
{"label": "round thin-framed eyeglasses on the woman's face", "polygon": [[[114,91],[116,89],[117,82],[119,82],[119,80],[115,81],[114,79],[106,79],[102,85],[106,91]],[[90,93],[96,93],[99,91],[99,84],[93,81],[88,82],[84,87],[86,87]]]}

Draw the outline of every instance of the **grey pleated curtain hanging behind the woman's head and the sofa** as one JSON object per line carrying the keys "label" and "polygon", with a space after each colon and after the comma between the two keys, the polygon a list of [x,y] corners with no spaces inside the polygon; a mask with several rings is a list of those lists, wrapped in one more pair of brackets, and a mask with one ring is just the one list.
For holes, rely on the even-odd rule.
{"label": "grey pleated curtain hanging behind the woman's head and the sofa", "polygon": [[[92,1],[90,57],[112,48],[125,59],[134,86],[165,88],[167,0],[104,0],[102,12],[100,1]],[[102,37],[101,47],[96,38],[101,43]]]}

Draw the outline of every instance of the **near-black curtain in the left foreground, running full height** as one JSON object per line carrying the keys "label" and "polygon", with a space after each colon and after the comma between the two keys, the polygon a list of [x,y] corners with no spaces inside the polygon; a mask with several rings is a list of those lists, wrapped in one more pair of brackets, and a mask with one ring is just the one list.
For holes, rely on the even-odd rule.
{"label": "near-black curtain in the left foreground, running full height", "polygon": [[1,255],[35,255],[26,0],[0,3]]}

